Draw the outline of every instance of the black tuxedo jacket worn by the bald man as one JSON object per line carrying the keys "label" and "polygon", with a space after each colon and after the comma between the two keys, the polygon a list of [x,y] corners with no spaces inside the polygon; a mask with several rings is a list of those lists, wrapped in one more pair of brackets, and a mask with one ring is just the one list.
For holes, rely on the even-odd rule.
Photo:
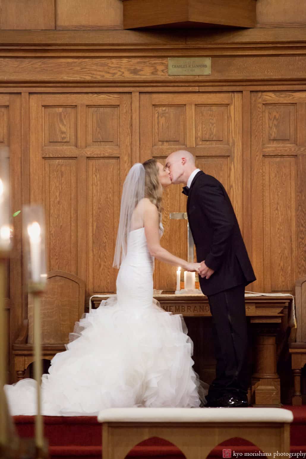
{"label": "black tuxedo jacket worn by the bald man", "polygon": [[211,175],[198,172],[187,200],[189,227],[197,261],[215,272],[199,276],[204,295],[213,295],[256,280],[233,206],[223,185]]}

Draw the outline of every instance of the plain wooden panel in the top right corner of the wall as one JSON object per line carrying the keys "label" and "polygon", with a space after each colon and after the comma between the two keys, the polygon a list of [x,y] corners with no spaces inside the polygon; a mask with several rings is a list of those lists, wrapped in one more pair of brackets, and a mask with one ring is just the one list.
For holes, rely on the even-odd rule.
{"label": "plain wooden panel in the top right corner of the wall", "polygon": [[305,27],[305,3],[294,0],[257,0],[256,21],[257,27]]}

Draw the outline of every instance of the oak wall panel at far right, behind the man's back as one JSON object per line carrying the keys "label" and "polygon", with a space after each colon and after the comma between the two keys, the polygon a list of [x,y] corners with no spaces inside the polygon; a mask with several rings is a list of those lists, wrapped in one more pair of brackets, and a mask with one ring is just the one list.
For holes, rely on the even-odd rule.
{"label": "oak wall panel at far right, behind the man's back", "polygon": [[306,92],[251,96],[252,259],[258,291],[306,274]]}

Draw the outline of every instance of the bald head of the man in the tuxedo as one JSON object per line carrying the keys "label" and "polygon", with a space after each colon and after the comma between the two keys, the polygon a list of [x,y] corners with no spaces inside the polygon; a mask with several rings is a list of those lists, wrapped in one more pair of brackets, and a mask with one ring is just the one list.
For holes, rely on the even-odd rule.
{"label": "bald head of the man in the tuxedo", "polygon": [[173,151],[166,160],[172,184],[187,183],[189,175],[195,170],[195,157],[190,151]]}

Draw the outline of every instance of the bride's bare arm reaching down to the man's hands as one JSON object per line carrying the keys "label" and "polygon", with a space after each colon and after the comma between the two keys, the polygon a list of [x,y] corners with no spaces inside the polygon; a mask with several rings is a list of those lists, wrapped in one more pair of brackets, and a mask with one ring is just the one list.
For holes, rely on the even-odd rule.
{"label": "bride's bare arm reaching down to the man's hands", "polygon": [[148,249],[152,257],[155,257],[157,260],[161,260],[164,263],[172,264],[173,266],[181,266],[187,271],[198,270],[200,263],[188,263],[186,260],[172,255],[172,253],[161,247],[159,235],[159,214],[157,207],[152,204],[149,199],[145,199],[144,227]]}

